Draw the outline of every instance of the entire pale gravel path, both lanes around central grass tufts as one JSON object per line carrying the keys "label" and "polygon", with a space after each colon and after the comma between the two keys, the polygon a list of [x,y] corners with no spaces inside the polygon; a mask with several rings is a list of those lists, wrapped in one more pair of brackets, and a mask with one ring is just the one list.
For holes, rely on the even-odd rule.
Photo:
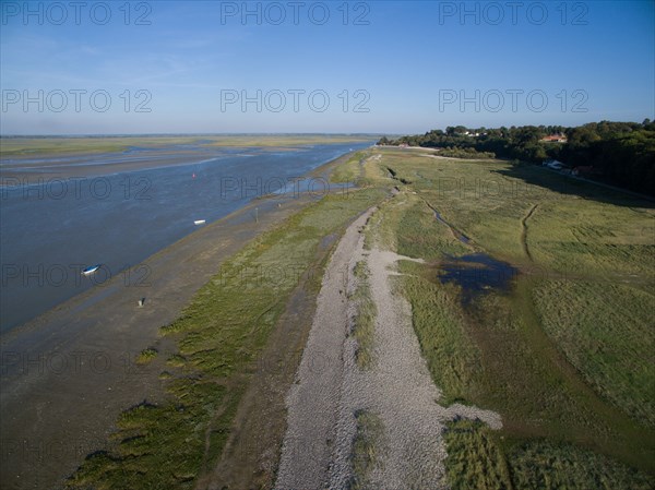
{"label": "entire pale gravel path, both lanes around central grass tufts", "polygon": [[[408,302],[394,296],[391,268],[404,258],[390,251],[364,250],[358,231],[369,210],[346,231],[327,267],[317,313],[288,398],[288,429],[283,444],[276,488],[344,489],[352,479],[356,410],[368,410],[382,422],[383,447],[367,479],[371,489],[439,489],[444,479],[444,423],[454,417],[478,418],[502,427],[497,414],[437,402],[432,383],[412,326]],[[378,315],[373,363],[361,370],[355,361],[357,343],[348,336],[356,307],[347,301],[357,280],[353,267],[366,261],[371,297]],[[317,363],[320,363],[317,369]]]}

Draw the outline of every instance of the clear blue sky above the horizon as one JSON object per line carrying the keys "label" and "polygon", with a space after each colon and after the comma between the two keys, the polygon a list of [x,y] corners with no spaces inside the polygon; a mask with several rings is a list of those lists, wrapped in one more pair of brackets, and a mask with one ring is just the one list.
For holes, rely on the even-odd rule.
{"label": "clear blue sky above the horizon", "polygon": [[1,3],[2,134],[654,119],[653,1]]}

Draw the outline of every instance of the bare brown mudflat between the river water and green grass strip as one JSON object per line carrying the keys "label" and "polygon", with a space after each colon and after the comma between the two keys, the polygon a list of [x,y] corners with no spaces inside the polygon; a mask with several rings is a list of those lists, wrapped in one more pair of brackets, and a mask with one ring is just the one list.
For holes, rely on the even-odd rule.
{"label": "bare brown mudflat between the river water and green grass strip", "polygon": [[4,335],[1,487],[60,488],[86,454],[104,446],[122,410],[160,399],[163,360],[141,366],[135,356],[150,346],[170,349],[158,328],[223,260],[310,199],[279,207],[279,200],[258,200],[144,261],[146,284],[126,284],[121,274]]}

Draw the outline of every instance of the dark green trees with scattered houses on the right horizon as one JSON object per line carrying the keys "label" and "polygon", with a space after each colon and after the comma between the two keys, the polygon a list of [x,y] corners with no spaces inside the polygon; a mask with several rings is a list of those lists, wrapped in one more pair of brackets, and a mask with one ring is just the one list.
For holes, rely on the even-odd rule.
{"label": "dark green trees with scattered houses on the right horizon", "polygon": [[[562,138],[560,142],[543,141],[552,135]],[[570,168],[587,167],[585,174],[594,179],[655,195],[655,122],[650,119],[642,123],[591,122],[575,128],[456,126],[397,140],[382,138],[378,144],[448,148],[453,155],[480,152],[535,164],[557,159]]]}

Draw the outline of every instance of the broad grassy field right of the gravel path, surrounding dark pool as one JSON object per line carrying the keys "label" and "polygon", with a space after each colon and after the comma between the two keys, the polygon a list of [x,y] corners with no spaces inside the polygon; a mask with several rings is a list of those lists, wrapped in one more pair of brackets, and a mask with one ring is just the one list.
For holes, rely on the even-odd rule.
{"label": "broad grassy field right of the gravel path, surrounding dark pool", "polygon": [[[654,486],[653,204],[538,167],[407,150],[376,148],[364,171],[402,191],[368,238],[427,261],[402,263],[397,280],[441,403],[503,419],[499,432],[453,426],[453,488]],[[465,304],[439,276],[472,253],[512,264],[512,288]]]}

